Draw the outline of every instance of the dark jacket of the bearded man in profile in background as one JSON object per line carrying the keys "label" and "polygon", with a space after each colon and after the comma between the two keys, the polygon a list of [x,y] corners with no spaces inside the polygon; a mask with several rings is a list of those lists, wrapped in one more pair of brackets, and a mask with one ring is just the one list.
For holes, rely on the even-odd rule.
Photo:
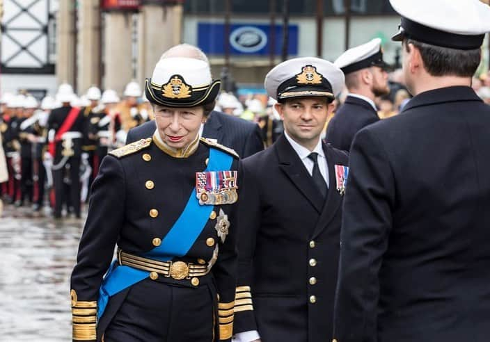
{"label": "dark jacket of the bearded man in profile in background", "polygon": [[354,135],[363,127],[377,121],[378,113],[367,101],[348,96],[330,120],[325,141],[337,149],[349,151]]}

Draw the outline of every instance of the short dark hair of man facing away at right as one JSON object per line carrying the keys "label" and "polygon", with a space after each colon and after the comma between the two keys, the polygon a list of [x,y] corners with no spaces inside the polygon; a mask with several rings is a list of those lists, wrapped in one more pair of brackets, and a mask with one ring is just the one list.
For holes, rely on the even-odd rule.
{"label": "short dark hair of man facing away at right", "polygon": [[407,38],[404,40],[407,52],[410,52],[409,44],[413,44],[420,51],[425,70],[431,76],[471,77],[475,74],[482,58],[480,49],[459,50],[436,47]]}

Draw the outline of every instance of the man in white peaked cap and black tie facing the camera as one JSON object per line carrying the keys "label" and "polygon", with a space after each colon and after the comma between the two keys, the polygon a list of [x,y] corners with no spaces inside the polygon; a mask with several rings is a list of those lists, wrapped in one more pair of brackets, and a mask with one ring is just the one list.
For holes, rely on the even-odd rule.
{"label": "man in white peaked cap and black tie facing the camera", "polygon": [[295,58],[265,88],[285,132],[243,161],[235,340],[325,341],[332,332],[347,154],[320,139],[344,74]]}

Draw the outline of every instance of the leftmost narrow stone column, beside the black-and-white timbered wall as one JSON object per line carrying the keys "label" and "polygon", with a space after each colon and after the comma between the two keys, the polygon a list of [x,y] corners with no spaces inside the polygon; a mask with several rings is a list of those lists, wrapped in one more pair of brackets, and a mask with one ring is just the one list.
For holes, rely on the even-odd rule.
{"label": "leftmost narrow stone column, beside the black-and-white timbered wall", "polygon": [[75,42],[77,38],[74,27],[74,1],[59,1],[57,16],[56,76],[58,84],[68,82],[74,86]]}

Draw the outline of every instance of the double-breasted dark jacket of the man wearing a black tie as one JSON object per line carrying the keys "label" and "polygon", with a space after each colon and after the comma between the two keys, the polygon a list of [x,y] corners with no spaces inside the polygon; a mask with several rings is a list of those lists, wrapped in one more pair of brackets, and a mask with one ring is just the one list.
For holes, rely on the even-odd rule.
{"label": "double-breasted dark jacket of the man wearing a black tie", "polygon": [[243,161],[235,333],[258,330],[263,342],[331,336],[342,211],[334,168],[347,154],[323,149],[326,200],[285,136]]}

